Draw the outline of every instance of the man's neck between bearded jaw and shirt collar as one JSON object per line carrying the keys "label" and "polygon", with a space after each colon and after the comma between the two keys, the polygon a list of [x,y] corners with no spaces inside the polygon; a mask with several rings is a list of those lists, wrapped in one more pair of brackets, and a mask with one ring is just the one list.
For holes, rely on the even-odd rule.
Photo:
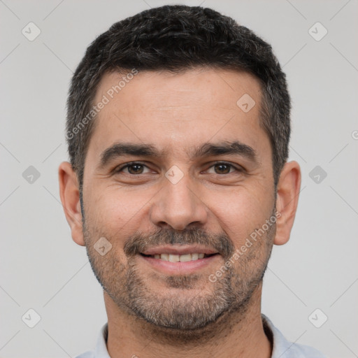
{"label": "man's neck between bearded jaw and shirt collar", "polygon": [[111,358],[269,358],[272,347],[262,325],[261,294],[262,282],[244,312],[227,311],[202,329],[178,331],[153,327],[119,308],[104,292],[108,353]]}

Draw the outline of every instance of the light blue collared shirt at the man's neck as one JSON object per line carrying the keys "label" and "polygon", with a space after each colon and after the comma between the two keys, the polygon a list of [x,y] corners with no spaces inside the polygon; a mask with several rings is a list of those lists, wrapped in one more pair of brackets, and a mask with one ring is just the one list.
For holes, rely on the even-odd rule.
{"label": "light blue collared shirt at the man's neck", "polygon": [[[271,331],[272,333],[273,350],[271,358],[327,358],[322,355],[322,353],[315,350],[315,348],[308,347],[308,345],[288,342],[282,333],[273,325],[273,323],[268,320],[268,317],[263,314],[262,322],[264,324],[265,331]],[[76,358],[110,358],[106,346],[107,336],[108,323],[104,324],[101,328],[94,351],[85,352]]]}

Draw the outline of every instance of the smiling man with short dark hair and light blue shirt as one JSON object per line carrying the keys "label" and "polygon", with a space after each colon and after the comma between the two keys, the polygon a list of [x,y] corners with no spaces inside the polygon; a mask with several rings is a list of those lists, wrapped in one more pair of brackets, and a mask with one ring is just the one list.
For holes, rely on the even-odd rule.
{"label": "smiling man with short dark hair and light blue shirt", "polygon": [[210,8],[152,8],[90,45],[59,183],[108,324],[79,357],[323,357],[261,314],[301,185],[289,111],[271,46]]}

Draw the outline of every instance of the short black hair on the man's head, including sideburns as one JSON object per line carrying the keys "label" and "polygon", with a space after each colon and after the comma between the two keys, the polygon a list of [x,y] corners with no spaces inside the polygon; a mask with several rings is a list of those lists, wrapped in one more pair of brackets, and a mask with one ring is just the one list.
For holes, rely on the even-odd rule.
{"label": "short black hair on the man's head, including sideburns", "polygon": [[[66,138],[80,188],[94,128],[94,96],[104,73],[207,67],[246,71],[262,86],[260,125],[272,148],[277,186],[288,156],[291,103],[285,73],[271,45],[211,8],[172,5],[145,10],[113,24],[87,48],[71,80]],[[87,120],[86,120],[87,118]]]}

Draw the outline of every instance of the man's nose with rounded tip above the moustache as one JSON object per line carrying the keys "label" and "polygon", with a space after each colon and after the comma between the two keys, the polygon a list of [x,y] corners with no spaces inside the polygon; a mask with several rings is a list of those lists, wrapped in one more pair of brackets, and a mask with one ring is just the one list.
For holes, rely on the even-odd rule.
{"label": "man's nose with rounded tip above the moustache", "polygon": [[187,173],[176,184],[165,179],[163,185],[152,201],[150,218],[153,224],[176,230],[206,224],[208,208]]}

